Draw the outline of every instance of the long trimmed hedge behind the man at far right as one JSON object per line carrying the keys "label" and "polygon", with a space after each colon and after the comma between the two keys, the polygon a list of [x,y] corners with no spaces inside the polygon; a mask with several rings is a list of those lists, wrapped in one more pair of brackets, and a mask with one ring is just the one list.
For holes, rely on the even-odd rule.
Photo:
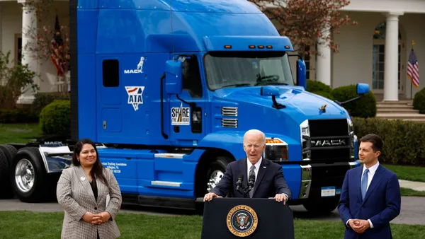
{"label": "long trimmed hedge behind the man at far right", "polygon": [[384,141],[380,161],[399,165],[425,164],[425,124],[379,118],[353,117],[354,132],[360,139],[378,134]]}

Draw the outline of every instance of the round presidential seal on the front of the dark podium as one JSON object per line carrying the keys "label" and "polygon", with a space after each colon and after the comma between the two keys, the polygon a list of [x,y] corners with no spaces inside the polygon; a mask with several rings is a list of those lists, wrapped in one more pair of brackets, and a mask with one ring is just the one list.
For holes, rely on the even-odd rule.
{"label": "round presidential seal on the front of the dark podium", "polygon": [[234,206],[227,214],[227,228],[238,237],[246,237],[254,233],[258,223],[259,218],[250,206]]}

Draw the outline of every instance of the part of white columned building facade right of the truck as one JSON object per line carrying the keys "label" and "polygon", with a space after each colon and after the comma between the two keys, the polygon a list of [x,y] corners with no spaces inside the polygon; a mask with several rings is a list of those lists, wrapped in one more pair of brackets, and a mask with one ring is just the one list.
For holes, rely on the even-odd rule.
{"label": "part of white columned building facade right of the truck", "polygon": [[[351,0],[342,14],[358,25],[344,26],[333,35],[340,45],[338,53],[319,46],[322,55],[306,59],[308,78],[332,88],[368,83],[378,101],[410,99],[424,88],[425,0]],[[407,77],[412,41],[419,62],[419,88]]]}

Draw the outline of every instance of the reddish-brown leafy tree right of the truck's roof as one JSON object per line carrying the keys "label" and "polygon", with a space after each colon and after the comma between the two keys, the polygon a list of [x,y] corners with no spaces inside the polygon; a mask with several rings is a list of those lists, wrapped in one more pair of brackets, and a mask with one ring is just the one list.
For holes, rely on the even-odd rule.
{"label": "reddish-brown leafy tree right of the truck's roof", "polygon": [[294,50],[302,57],[319,54],[315,45],[327,45],[339,52],[339,44],[332,39],[332,32],[339,33],[342,25],[357,25],[339,9],[350,4],[347,0],[248,0],[273,22],[280,23],[278,32],[289,37]]}

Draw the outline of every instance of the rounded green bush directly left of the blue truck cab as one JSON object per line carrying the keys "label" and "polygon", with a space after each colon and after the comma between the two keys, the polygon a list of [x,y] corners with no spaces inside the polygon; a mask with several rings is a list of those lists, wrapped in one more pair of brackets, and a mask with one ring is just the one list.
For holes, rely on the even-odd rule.
{"label": "rounded green bush directly left of the blue truck cab", "polygon": [[69,136],[71,127],[71,103],[55,100],[40,112],[40,127],[45,134]]}

